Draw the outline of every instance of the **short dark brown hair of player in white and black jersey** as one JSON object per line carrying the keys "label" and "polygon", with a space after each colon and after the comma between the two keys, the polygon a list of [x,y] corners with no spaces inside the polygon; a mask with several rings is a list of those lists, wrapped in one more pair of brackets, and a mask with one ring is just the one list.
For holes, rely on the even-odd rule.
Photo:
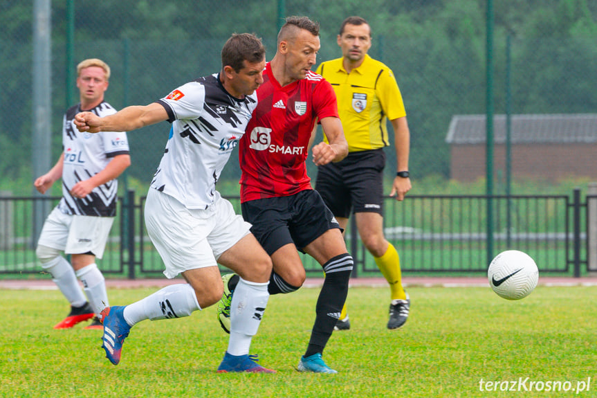
{"label": "short dark brown hair of player in white and black jersey", "polygon": [[246,60],[252,64],[261,62],[266,57],[266,48],[261,39],[252,33],[235,33],[222,47],[222,69],[228,65],[239,72]]}

